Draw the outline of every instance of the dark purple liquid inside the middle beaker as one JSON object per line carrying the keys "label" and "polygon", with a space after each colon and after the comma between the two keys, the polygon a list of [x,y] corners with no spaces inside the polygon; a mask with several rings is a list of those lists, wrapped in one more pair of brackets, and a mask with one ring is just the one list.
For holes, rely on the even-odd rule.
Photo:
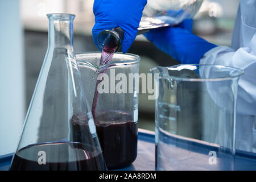
{"label": "dark purple liquid inside the middle beaker", "polygon": [[102,111],[96,129],[108,169],[129,166],[137,157],[138,124],[131,113]]}

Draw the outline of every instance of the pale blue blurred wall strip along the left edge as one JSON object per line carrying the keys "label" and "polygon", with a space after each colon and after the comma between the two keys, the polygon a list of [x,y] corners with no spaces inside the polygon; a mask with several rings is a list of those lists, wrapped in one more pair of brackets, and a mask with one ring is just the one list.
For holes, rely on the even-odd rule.
{"label": "pale blue blurred wall strip along the left edge", "polygon": [[0,1],[0,155],[14,152],[26,110],[23,28],[18,0]]}

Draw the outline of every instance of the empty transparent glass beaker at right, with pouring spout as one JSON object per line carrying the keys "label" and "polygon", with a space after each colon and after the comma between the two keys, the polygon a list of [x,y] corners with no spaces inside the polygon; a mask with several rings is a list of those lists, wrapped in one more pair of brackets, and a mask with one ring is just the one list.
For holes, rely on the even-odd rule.
{"label": "empty transparent glass beaker at right, with pouring spout", "polygon": [[157,170],[232,170],[241,69],[221,65],[156,67]]}

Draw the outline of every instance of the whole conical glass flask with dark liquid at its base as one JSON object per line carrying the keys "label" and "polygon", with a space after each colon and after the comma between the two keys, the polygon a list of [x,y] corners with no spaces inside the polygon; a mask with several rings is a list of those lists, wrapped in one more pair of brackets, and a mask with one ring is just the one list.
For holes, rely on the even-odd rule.
{"label": "whole conical glass flask with dark liquid at its base", "polygon": [[48,49],[10,170],[105,170],[73,53],[71,14],[48,14]]}

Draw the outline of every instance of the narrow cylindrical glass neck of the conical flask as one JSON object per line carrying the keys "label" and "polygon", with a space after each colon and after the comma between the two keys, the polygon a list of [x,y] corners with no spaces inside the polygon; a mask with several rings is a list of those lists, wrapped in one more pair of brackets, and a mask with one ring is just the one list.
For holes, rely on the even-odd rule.
{"label": "narrow cylindrical glass neck of the conical flask", "polygon": [[48,14],[48,48],[73,49],[73,19],[72,14]]}

